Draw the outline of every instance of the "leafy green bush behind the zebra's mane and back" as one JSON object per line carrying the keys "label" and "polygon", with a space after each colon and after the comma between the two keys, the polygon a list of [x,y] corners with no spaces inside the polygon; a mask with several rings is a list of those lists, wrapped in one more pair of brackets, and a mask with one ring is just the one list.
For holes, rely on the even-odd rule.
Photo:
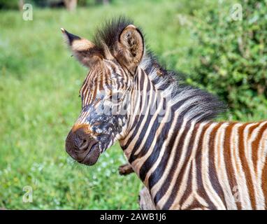
{"label": "leafy green bush behind the zebra's mane and back", "polygon": [[190,53],[199,62],[187,83],[218,94],[234,119],[244,113],[262,119],[267,114],[267,1],[247,0],[241,6],[241,20],[233,19],[237,11],[226,1],[194,12],[197,45]]}

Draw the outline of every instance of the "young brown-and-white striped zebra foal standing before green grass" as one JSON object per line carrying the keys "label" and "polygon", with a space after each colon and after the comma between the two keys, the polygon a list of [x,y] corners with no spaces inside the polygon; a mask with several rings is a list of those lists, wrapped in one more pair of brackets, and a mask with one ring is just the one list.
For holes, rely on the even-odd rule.
{"label": "young brown-and-white striped zebra foal standing before green grass", "polygon": [[129,19],[109,20],[93,41],[62,32],[89,68],[66,137],[73,159],[94,165],[119,141],[120,172],[137,174],[156,209],[267,209],[267,121],[215,121],[224,104],[180,84]]}

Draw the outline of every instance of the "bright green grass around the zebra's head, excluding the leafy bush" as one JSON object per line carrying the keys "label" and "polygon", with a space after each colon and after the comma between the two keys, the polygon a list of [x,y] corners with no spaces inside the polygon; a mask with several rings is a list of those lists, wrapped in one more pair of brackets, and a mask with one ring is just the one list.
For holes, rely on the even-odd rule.
{"label": "bright green grass around the zebra's head, excluding the leafy bush", "polygon": [[[34,20],[0,11],[0,207],[6,209],[138,209],[141,183],[119,176],[126,162],[120,146],[94,167],[68,159],[64,141],[80,113],[78,90],[86,69],[71,57],[60,27],[89,38],[106,18],[127,15],[143,27],[150,48],[169,69],[189,72],[194,44],[180,15],[190,22],[201,3],[115,1],[110,6],[66,10],[34,8]],[[210,1],[211,2],[211,1]],[[24,186],[33,202],[22,202]]]}

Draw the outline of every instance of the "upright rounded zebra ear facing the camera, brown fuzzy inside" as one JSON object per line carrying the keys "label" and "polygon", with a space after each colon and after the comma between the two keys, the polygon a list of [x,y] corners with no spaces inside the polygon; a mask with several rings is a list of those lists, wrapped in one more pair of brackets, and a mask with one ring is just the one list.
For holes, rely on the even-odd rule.
{"label": "upright rounded zebra ear facing the camera, brown fuzzy inside", "polygon": [[120,63],[131,73],[135,73],[144,52],[143,36],[140,31],[133,25],[125,27],[120,34],[118,48],[117,58]]}

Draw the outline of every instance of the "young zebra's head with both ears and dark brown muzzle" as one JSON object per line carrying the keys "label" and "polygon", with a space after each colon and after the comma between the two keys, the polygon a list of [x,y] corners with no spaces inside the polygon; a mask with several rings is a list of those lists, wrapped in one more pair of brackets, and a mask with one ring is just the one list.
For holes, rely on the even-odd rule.
{"label": "young zebra's head with both ears and dark brown muzzle", "polygon": [[144,52],[143,36],[129,24],[111,25],[106,34],[96,34],[94,43],[65,29],[62,32],[73,55],[89,68],[80,88],[82,111],[66,137],[66,151],[78,162],[94,165],[127,130],[133,80]]}

